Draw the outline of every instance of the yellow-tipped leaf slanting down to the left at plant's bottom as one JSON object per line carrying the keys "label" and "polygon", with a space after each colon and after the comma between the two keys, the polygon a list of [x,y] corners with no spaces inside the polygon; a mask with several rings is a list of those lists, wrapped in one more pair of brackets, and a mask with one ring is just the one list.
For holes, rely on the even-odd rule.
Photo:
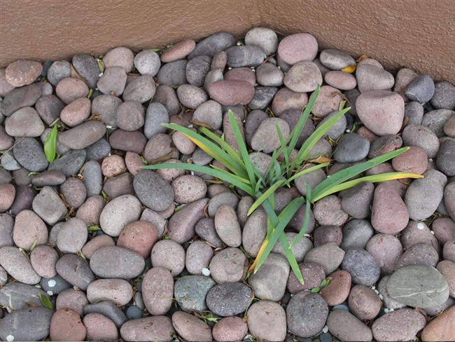
{"label": "yellow-tipped leaf slanting down to the left at plant's bottom", "polygon": [[[265,201],[264,203],[267,203]],[[265,259],[268,257],[270,252],[272,252],[272,249],[274,245],[276,244],[276,241],[278,241],[279,235],[283,233],[284,228],[287,226],[289,223],[290,219],[293,218],[295,212],[297,212],[298,208],[304,203],[304,199],[302,197],[294,198],[286,207],[283,209],[283,211],[279,214],[278,217],[276,217],[276,214],[274,214],[274,210],[272,210],[271,207],[268,205],[262,205],[264,207],[265,211],[269,215],[269,217],[272,217],[272,224],[274,223],[273,221],[278,221],[278,224],[276,224],[274,227],[274,232],[272,233],[272,238],[267,243],[267,246],[264,248],[264,251],[262,252],[261,255],[258,255],[256,259],[257,263],[254,268],[254,273],[258,271],[262,263],[265,261]],[[272,214],[273,213],[273,214]]]}

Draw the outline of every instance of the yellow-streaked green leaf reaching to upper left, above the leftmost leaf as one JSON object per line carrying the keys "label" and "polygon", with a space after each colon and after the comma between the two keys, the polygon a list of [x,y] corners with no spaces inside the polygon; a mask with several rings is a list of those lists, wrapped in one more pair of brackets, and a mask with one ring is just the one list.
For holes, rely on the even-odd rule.
{"label": "yellow-streaked green leaf reaching to upper left, above the leftmost leaf", "polygon": [[218,160],[225,167],[228,167],[228,169],[235,173],[235,175],[247,176],[242,165],[239,165],[237,161],[234,160],[228,153],[223,151],[223,149],[211,142],[206,137],[202,137],[202,135],[193,132],[193,130],[189,130],[188,128],[181,125],[176,125],[175,123],[162,123],[162,125],[171,130],[177,130],[183,133],[183,135],[197,144],[197,146],[200,146],[204,152],[208,153],[210,156]]}

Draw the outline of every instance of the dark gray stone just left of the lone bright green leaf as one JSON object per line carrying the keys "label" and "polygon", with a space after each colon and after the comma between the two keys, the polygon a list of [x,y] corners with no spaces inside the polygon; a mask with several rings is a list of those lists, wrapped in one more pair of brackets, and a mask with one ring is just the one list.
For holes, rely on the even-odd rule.
{"label": "dark gray stone just left of the lone bright green leaf", "polygon": [[25,137],[19,144],[14,146],[13,153],[15,160],[18,160],[20,165],[30,171],[40,172],[49,165],[43,146],[34,138]]}

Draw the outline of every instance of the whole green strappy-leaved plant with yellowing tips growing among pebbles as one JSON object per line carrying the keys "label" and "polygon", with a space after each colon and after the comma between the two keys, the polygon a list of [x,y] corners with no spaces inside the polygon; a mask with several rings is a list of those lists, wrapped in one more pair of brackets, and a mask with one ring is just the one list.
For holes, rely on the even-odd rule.
{"label": "whole green strappy-leaved plant with yellowing tips growing among pebbles", "polygon": [[[300,133],[304,128],[304,124],[309,118],[311,109],[314,106],[316,97],[318,96],[319,86],[314,90],[314,93],[311,95],[307,106],[302,111],[302,116],[300,116],[297,125],[290,132],[288,137],[284,139],[279,126],[276,125],[276,131],[280,139],[281,146],[279,149],[275,149],[272,153],[272,160],[270,161],[267,170],[264,175],[261,175],[258,167],[253,165],[244,139],[241,137],[239,126],[235,119],[232,111],[228,111],[228,116],[230,123],[232,125],[232,130],[239,146],[239,151],[235,151],[229,144],[225,142],[223,137],[218,137],[214,132],[205,127],[200,127],[198,132],[193,132],[188,128],[185,128],[181,125],[176,124],[163,124],[165,127],[171,130],[177,130],[182,132],[183,135],[186,135],[188,139],[193,141],[197,146],[199,146],[203,151],[208,153],[210,156],[218,160],[219,163],[223,164],[229,171],[221,170],[214,165],[211,167],[189,164],[189,163],[164,163],[158,165],[146,165],[142,166],[146,169],[165,169],[165,168],[174,168],[174,169],[183,169],[195,172],[202,172],[218,179],[222,179],[225,182],[237,186],[237,188],[245,191],[248,195],[252,196],[255,199],[255,203],[251,206],[248,211],[248,215],[251,214],[256,208],[260,205],[267,212],[267,235],[265,240],[262,242],[260,251],[255,261],[251,265],[250,272],[256,272],[265,261],[272,248],[279,240],[283,246],[283,250],[286,254],[286,257],[289,261],[291,268],[293,269],[297,279],[303,284],[304,280],[300,268],[297,265],[294,254],[291,248],[302,238],[304,233],[306,233],[309,226],[309,215],[311,203],[320,200],[321,198],[328,196],[332,193],[342,191],[344,189],[349,189],[361,182],[382,182],[390,179],[399,179],[399,178],[418,178],[422,177],[421,175],[414,175],[408,172],[391,172],[381,175],[373,175],[368,177],[359,177],[349,181],[352,177],[359,175],[365,170],[370,169],[371,167],[384,163],[386,160],[389,160],[395,156],[398,156],[400,153],[403,153],[409,149],[405,147],[398,149],[397,151],[392,151],[386,153],[382,156],[368,160],[365,163],[358,165],[353,165],[347,167],[344,170],[341,170],[335,175],[328,177],[323,182],[318,184],[313,190],[310,189],[308,184],[305,184],[307,188],[307,196],[293,199],[279,215],[274,212],[274,193],[276,189],[279,189],[283,186],[291,186],[291,182],[302,175],[307,174],[308,172],[317,170],[322,167],[327,167],[330,165],[330,161],[324,160],[321,157],[321,154],[309,156],[309,152],[313,146],[318,142],[321,137],[330,130],[332,125],[335,125],[339,121],[349,108],[342,109],[337,112],[334,116],[325,121],[325,123],[318,125],[318,128],[311,134],[311,136],[302,144],[300,149],[297,152],[295,158],[291,159],[291,153],[295,149],[297,144],[297,139],[300,137]],[[205,137],[204,137],[205,136]],[[279,163],[278,157],[283,155],[283,160]],[[318,165],[306,167],[308,163],[318,163]],[[288,225],[288,222],[294,216],[295,212],[302,206],[306,204],[305,218],[300,230],[300,233],[295,237],[295,240],[289,245],[289,242],[284,234],[284,228]]]}

